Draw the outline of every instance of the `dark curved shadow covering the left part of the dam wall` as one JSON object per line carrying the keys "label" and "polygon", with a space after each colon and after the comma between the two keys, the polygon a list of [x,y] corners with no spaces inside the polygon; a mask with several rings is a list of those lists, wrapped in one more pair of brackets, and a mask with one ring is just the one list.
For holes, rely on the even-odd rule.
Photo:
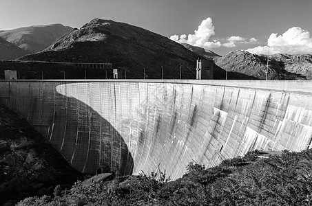
{"label": "dark curved shadow covering the left part of the dam wall", "polygon": [[7,86],[10,95],[2,97],[3,103],[39,130],[76,170],[132,174],[134,161],[121,134],[84,102],[58,93],[62,83]]}

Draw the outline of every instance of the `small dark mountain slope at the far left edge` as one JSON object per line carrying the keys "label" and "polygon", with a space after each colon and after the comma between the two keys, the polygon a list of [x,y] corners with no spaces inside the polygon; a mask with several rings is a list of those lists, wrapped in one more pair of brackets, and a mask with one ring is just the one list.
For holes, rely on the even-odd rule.
{"label": "small dark mountain slope at the far left edge", "polygon": [[21,56],[25,56],[26,54],[30,54],[29,52],[5,41],[0,37],[0,59],[1,60],[14,60]]}

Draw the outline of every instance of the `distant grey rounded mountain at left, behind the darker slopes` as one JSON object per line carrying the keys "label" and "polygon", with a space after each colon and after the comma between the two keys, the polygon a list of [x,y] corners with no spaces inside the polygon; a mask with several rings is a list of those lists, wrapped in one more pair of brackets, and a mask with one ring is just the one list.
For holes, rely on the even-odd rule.
{"label": "distant grey rounded mountain at left, behind the darker slopes", "polygon": [[72,27],[61,24],[34,25],[14,30],[0,31],[0,37],[30,53],[40,52],[57,38],[70,32]]}

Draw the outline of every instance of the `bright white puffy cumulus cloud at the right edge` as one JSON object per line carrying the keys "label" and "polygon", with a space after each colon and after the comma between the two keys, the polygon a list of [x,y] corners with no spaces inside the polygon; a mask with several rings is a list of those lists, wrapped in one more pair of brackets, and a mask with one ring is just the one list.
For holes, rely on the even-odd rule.
{"label": "bright white puffy cumulus cloud at the right edge", "polygon": [[[270,47],[270,54],[311,54],[312,37],[309,31],[302,30],[300,27],[292,27],[284,34],[272,33],[267,41]],[[267,54],[268,47],[254,47],[247,49],[253,54]]]}

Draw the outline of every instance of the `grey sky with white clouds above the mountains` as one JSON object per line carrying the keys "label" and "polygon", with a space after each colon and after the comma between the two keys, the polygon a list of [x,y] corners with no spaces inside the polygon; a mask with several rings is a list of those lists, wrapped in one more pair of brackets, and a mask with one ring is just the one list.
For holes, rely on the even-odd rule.
{"label": "grey sky with white clouds above the mountains", "polygon": [[[1,0],[0,30],[112,19],[225,55],[312,54],[311,0]],[[269,45],[269,47],[267,47]]]}

